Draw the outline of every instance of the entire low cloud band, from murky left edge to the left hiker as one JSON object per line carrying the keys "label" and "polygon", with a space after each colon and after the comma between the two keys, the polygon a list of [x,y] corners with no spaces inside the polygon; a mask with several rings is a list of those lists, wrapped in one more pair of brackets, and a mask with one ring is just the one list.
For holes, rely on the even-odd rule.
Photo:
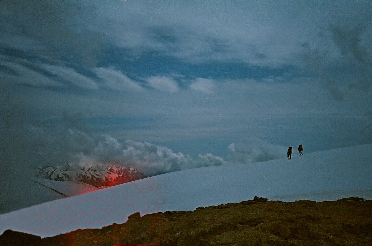
{"label": "entire low cloud band, from murky left edge to the left hiker", "polygon": [[118,164],[154,175],[190,168],[231,165],[271,160],[284,156],[285,147],[251,139],[248,144],[230,144],[231,155],[222,158],[210,153],[191,157],[182,152],[151,144],[120,142],[107,134],[91,134],[81,124],[81,115],[65,114],[64,124],[38,126],[3,124],[1,163],[7,169],[22,170],[71,163]]}

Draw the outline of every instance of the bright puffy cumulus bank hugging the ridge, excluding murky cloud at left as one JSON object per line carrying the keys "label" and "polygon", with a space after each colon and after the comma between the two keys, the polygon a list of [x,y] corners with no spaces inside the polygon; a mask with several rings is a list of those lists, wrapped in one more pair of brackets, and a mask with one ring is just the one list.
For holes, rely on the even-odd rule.
{"label": "bright puffy cumulus bank hugging the ridge, excluding murky cloud at left", "polygon": [[232,153],[229,160],[224,160],[224,158],[211,153],[199,154],[198,158],[192,158],[182,152],[175,153],[164,146],[132,140],[119,143],[109,135],[101,135],[94,151],[89,155],[78,153],[76,161],[81,166],[85,165],[87,160],[93,160],[99,164],[113,161],[135,167],[151,175],[197,167],[253,163],[273,160],[286,155],[286,147],[255,138],[249,139],[246,144],[232,143],[229,145],[229,149]]}

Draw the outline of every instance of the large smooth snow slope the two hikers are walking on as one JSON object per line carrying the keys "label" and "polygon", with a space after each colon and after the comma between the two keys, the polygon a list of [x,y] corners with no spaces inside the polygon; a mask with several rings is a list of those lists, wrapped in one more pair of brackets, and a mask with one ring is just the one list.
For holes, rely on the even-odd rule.
{"label": "large smooth snow slope the two hikers are walking on", "polygon": [[251,200],[315,201],[358,196],[372,199],[372,144],[261,163],[196,168],[39,204],[0,215],[6,229],[42,237],[78,228],[124,223],[128,216],[194,210]]}

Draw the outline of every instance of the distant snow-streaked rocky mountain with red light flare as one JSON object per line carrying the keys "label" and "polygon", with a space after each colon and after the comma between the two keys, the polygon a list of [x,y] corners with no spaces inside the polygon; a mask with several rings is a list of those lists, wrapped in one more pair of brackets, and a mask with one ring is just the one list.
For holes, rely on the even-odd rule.
{"label": "distant snow-streaked rocky mountain with red light flare", "polygon": [[82,168],[74,168],[68,163],[55,167],[38,168],[33,176],[56,181],[73,181],[78,184],[86,183],[98,188],[148,177],[132,167],[86,164]]}

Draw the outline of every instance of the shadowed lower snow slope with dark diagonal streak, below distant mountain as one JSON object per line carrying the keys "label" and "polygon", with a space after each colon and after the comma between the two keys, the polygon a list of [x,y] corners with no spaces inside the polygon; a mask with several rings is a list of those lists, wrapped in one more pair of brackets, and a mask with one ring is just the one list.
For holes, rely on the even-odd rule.
{"label": "shadowed lower snow slope with dark diagonal streak, below distant mountain", "polygon": [[98,190],[96,187],[35,178],[4,170],[0,172],[0,180],[0,214]]}

